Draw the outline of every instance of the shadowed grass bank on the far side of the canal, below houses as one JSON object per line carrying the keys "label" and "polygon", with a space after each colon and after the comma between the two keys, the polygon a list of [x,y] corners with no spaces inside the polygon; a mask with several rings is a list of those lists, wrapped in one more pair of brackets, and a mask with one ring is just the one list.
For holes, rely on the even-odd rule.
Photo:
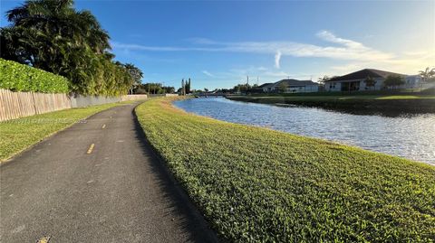
{"label": "shadowed grass bank on the far side of the canal, below houses", "polygon": [[292,104],[306,107],[324,107],[353,111],[430,112],[435,113],[435,96],[432,95],[288,95],[288,96],[229,96],[229,99],[263,104]]}

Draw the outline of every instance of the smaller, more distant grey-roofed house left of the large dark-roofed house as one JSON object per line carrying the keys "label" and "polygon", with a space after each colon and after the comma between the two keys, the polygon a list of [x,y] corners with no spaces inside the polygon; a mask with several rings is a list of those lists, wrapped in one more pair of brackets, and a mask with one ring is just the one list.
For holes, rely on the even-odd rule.
{"label": "smaller, more distant grey-roofed house left of the large dark-roofed house", "polygon": [[319,84],[312,80],[282,79],[263,87],[265,93],[308,93],[319,91]]}

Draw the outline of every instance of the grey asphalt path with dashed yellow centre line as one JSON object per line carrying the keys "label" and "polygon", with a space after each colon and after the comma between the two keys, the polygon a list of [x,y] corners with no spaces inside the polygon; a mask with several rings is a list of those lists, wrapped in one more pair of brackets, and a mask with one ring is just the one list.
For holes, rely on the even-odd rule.
{"label": "grey asphalt path with dashed yellow centre line", "polygon": [[1,242],[215,242],[153,153],[113,107],[0,166]]}

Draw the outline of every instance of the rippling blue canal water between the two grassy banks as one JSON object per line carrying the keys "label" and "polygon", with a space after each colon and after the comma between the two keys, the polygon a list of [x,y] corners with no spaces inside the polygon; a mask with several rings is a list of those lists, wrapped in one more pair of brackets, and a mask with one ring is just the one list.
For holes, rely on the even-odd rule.
{"label": "rippling blue canal water between the two grassy banks", "polygon": [[190,98],[174,104],[201,116],[266,126],[435,165],[434,114],[352,115],[315,107],[275,107],[226,98]]}

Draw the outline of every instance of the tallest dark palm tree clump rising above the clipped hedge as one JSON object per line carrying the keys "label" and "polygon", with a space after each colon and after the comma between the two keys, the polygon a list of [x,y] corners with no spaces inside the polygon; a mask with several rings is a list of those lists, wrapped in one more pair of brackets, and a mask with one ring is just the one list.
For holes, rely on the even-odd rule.
{"label": "tallest dark palm tree clump rising above the clipped hedge", "polygon": [[77,89],[92,81],[92,55],[110,49],[108,33],[89,11],[76,11],[73,0],[28,0],[6,17],[12,26],[2,29],[2,39],[12,42],[5,58],[63,75]]}

